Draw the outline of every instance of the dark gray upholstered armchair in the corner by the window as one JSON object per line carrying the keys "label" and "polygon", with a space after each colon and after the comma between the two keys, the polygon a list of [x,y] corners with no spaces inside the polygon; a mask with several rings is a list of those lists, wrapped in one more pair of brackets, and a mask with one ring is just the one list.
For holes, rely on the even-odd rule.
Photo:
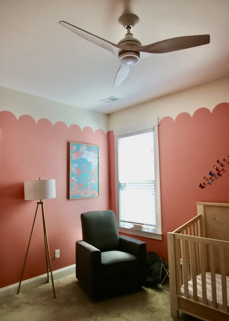
{"label": "dark gray upholstered armchair in the corner by the window", "polygon": [[118,234],[113,211],[81,214],[83,241],[76,242],[76,278],[93,298],[146,283],[146,244]]}

